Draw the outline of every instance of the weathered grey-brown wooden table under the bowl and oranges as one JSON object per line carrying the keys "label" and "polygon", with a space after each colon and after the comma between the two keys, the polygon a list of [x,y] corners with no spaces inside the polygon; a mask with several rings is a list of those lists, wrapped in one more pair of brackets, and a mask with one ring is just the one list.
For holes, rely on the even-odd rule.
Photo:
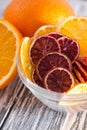
{"label": "weathered grey-brown wooden table under the bowl and oranges", "polygon": [[[0,0],[1,17],[9,1]],[[87,1],[69,2],[77,14],[87,15]],[[18,76],[0,91],[0,130],[87,130],[86,111],[69,116],[70,122],[64,128],[66,117],[66,112],[53,111],[42,104]]]}

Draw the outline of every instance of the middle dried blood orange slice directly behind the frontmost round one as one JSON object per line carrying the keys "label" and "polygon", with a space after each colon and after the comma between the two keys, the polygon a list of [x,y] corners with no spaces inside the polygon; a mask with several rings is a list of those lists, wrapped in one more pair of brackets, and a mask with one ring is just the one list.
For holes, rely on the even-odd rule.
{"label": "middle dried blood orange slice directly behind the frontmost round one", "polygon": [[71,71],[71,62],[64,54],[52,52],[39,60],[37,73],[41,79],[44,79],[46,74],[56,67],[63,67]]}

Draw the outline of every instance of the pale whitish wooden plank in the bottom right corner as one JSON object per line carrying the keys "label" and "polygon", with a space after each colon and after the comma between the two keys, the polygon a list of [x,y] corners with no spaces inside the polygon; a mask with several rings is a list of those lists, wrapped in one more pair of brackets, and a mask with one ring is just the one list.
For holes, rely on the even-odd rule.
{"label": "pale whitish wooden plank in the bottom right corner", "polygon": [[87,130],[87,111],[69,114],[63,130]]}

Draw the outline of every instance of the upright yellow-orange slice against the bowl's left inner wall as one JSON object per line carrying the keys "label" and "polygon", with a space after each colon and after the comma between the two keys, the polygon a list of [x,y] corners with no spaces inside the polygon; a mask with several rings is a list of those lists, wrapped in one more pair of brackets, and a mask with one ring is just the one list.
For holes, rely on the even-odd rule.
{"label": "upright yellow-orange slice against the bowl's left inner wall", "polygon": [[24,74],[32,80],[32,72],[34,66],[30,61],[29,51],[31,46],[31,39],[29,37],[25,37],[22,40],[22,45],[20,49],[20,59],[21,59],[21,66]]}

